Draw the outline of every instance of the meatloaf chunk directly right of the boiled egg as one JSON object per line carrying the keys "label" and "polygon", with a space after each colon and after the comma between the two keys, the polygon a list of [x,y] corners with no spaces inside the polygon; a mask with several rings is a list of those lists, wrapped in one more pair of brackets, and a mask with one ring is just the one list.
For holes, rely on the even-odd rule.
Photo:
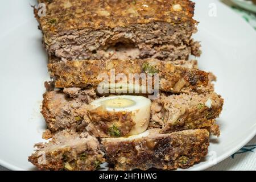
{"label": "meatloaf chunk directly right of the boiled egg", "polygon": [[163,93],[152,101],[149,127],[159,127],[161,133],[210,127],[220,115],[223,103],[221,96],[214,92],[170,96]]}

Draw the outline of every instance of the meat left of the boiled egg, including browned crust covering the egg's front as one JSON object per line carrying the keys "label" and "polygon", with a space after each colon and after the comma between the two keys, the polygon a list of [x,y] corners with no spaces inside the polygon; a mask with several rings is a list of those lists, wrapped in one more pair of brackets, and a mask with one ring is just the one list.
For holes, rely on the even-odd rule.
{"label": "meat left of the boiled egg, including browned crust covering the egg's front", "polygon": [[91,109],[88,104],[97,98],[92,89],[67,88],[46,92],[41,113],[48,130],[43,138],[51,138],[64,129],[87,130],[95,137],[125,137],[135,125],[131,113]]}

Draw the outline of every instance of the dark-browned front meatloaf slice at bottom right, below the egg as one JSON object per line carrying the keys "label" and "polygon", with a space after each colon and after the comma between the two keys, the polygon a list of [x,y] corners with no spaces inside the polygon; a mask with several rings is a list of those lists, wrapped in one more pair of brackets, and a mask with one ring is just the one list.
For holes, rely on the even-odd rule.
{"label": "dark-browned front meatloaf slice at bottom right, below the egg", "polygon": [[115,170],[188,168],[207,155],[209,133],[204,129],[161,134],[147,130],[129,138],[105,138],[106,160]]}

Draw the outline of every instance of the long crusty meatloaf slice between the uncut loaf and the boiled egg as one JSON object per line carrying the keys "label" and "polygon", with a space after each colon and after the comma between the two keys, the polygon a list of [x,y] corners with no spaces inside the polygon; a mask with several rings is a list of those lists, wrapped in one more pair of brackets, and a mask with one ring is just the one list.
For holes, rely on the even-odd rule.
{"label": "long crusty meatloaf slice between the uncut loaf and the boiled egg", "polygon": [[[146,89],[151,86],[166,92],[182,93],[183,89],[207,86],[209,75],[199,69],[189,69],[174,65],[170,61],[156,59],[67,61],[48,64],[48,68],[56,88],[99,89],[99,85],[104,83],[129,83],[138,84],[141,88],[144,86]],[[137,78],[138,82],[135,82],[134,78]],[[147,92],[148,90],[145,90],[145,93]]]}

